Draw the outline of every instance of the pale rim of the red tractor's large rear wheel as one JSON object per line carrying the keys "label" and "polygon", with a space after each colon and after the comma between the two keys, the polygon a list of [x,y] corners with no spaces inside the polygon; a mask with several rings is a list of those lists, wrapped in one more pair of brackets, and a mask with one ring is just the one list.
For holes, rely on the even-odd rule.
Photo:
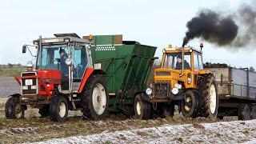
{"label": "pale rim of the red tractor's large rear wheel", "polygon": [[102,84],[97,83],[93,90],[93,106],[96,114],[101,115],[106,109],[106,91]]}

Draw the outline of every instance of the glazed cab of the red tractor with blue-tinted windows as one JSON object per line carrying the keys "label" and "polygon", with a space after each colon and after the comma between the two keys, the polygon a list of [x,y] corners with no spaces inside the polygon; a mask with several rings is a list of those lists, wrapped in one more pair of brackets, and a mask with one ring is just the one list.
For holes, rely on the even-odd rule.
{"label": "glazed cab of the red tractor with blue-tinted windows", "polygon": [[78,90],[82,76],[87,67],[92,67],[90,57],[90,41],[77,34],[54,34],[55,38],[34,40],[38,45],[35,69],[40,72],[54,74],[60,72],[61,85],[58,89],[63,93]]}

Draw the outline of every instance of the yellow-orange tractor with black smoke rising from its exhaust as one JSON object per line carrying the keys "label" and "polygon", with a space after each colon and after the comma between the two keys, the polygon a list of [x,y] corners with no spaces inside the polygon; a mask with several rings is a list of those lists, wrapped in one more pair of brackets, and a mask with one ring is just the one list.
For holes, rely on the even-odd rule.
{"label": "yellow-orange tractor with black smoke rising from its exhaust", "polygon": [[214,74],[203,69],[201,50],[172,47],[163,50],[154,82],[134,99],[135,117],[174,115],[174,106],[187,118],[217,118],[218,90]]}

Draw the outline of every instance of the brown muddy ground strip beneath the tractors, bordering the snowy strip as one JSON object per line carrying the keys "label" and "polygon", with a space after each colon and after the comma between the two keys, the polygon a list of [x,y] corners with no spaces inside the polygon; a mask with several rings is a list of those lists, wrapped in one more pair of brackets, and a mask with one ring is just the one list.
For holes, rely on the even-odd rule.
{"label": "brown muddy ground strip beneath the tractors, bordering the snowy strip", "polygon": [[[4,102],[2,100],[0,102]],[[51,122],[49,118],[40,118],[38,110],[26,110],[26,118],[7,120],[4,116],[4,104],[0,110],[0,143],[42,142],[52,138],[68,138],[90,134],[111,133],[122,130],[137,130],[163,125],[198,125],[202,122],[218,122],[206,118],[183,118],[176,114],[174,118],[158,118],[142,121],[126,118],[123,115],[110,115],[105,121],[90,121],[82,118],[81,112],[71,112],[67,122]],[[229,119],[226,119],[229,121]]]}

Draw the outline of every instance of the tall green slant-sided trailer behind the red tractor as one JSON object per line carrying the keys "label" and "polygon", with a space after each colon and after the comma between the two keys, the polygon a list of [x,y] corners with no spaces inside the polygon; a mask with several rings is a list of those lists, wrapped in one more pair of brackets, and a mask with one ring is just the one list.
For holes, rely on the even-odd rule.
{"label": "tall green slant-sided trailer behind the red tractor", "polygon": [[149,83],[157,47],[122,41],[122,35],[94,35],[92,39],[94,67],[106,73],[102,78],[110,95],[110,112],[132,116],[136,94],[145,93]]}

